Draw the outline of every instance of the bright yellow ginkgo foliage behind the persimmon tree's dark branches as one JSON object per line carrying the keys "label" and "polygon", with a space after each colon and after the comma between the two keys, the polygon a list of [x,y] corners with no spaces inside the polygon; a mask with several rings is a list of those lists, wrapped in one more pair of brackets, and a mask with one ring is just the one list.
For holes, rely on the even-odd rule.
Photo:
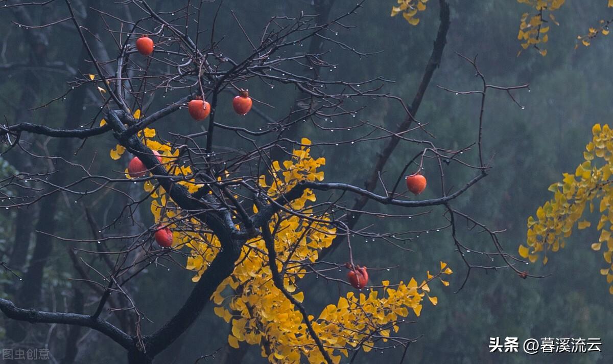
{"label": "bright yellow ginkgo foliage behind the persimmon tree's dark branches", "polygon": [[[140,135],[140,134],[139,134]],[[152,150],[162,154],[164,168],[174,176],[183,176],[178,182],[190,192],[202,185],[192,179],[189,166],[174,163],[178,150],[168,144],[148,139],[154,130],[145,130],[141,137]],[[321,181],[324,172],[318,168],[326,164],[325,158],[311,157],[311,141],[303,138],[302,146],[292,151],[289,160],[273,161],[267,176],[260,176],[258,185],[270,198],[276,198],[291,190],[300,181]],[[226,178],[230,178],[226,174]],[[147,181],[143,185],[151,196],[151,213],[156,223],[164,223],[173,230],[173,249],[185,247],[189,251],[186,268],[194,271],[192,281],[199,281],[211,261],[216,257],[221,244],[215,235],[208,233],[188,212],[177,208],[163,188]],[[336,228],[326,215],[315,215],[309,203],[316,201],[313,190],[307,189],[300,198],[292,201],[291,210],[281,210],[273,215],[268,228],[274,232],[278,270],[283,275],[284,288],[298,302],[305,300],[297,282],[313,270],[309,265],[318,260],[321,249],[329,247],[336,236]],[[257,207],[253,207],[257,213]],[[314,219],[305,219],[305,216]],[[452,274],[446,263],[440,263],[438,274],[427,273],[427,279],[418,284],[411,278],[390,285],[383,281],[381,288],[352,290],[330,303],[318,316],[302,317],[300,311],[287,300],[272,280],[267,250],[262,238],[250,239],[243,246],[234,273],[217,288],[211,296],[217,316],[232,325],[227,340],[230,346],[241,342],[262,346],[262,356],[272,363],[301,362],[322,363],[324,357],[307,330],[305,320],[313,330],[333,362],[349,357],[349,350],[370,351],[375,341],[390,340],[390,331],[398,332],[400,323],[409,314],[419,316],[422,301],[427,296],[430,303],[438,304],[438,298],[430,294],[428,283],[441,276]]]}

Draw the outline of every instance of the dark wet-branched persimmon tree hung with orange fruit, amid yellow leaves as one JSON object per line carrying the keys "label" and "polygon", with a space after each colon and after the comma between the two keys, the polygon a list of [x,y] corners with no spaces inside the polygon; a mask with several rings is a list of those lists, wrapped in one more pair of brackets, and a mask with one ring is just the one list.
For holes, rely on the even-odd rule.
{"label": "dark wet-branched persimmon tree hung with orange fruit, amid yellow leaves", "polygon": [[[416,24],[415,14],[407,7],[410,2],[399,2],[392,15],[408,13],[406,20]],[[7,120],[0,126],[0,136],[6,143],[3,155],[21,153],[31,160],[28,169],[2,180],[0,207],[21,211],[58,195],[90,201],[116,194],[128,202],[122,209],[109,212],[113,215],[109,226],[97,227],[95,219],[88,219],[91,236],[37,231],[56,244],[78,242],[95,247],[78,247],[67,253],[78,280],[96,295],[93,312],[45,310],[40,284],[23,288],[44,278],[43,268],[51,249],[48,242],[36,245],[34,255],[42,259],[32,262],[23,276],[22,290],[35,292],[28,293],[27,300],[19,295],[0,298],[0,310],[8,319],[91,328],[123,347],[129,363],[151,363],[213,301],[215,314],[230,325],[229,345],[238,347],[244,342],[260,346],[262,356],[272,363],[339,363],[343,358],[354,361],[360,352],[394,348],[403,350],[402,361],[415,340],[402,336],[403,325],[421,314],[426,299],[438,303],[435,292],[440,286],[436,283],[449,285],[446,279],[452,269],[441,261],[430,271],[416,272],[417,279],[371,280],[356,291],[350,288],[345,274],[338,274],[339,269],[347,273],[368,265],[354,261],[352,239],[376,239],[389,249],[402,251],[402,244],[419,233],[441,229],[419,223],[419,217],[438,211],[447,221],[442,229],[451,231],[453,247],[465,262],[463,284],[471,269],[509,268],[520,273],[515,266],[519,258],[504,252],[498,231],[452,204],[487,176],[490,168],[482,140],[487,122],[483,116],[486,95],[501,91],[520,106],[514,93],[527,85],[490,84],[476,58],[462,56],[468,72],[478,77],[479,89],[440,87],[440,91],[481,100],[472,126],[474,139],[458,141],[465,144],[460,149],[438,146],[433,128],[416,118],[443,56],[449,30],[446,1],[438,2],[440,26],[411,103],[390,95],[385,90],[389,80],[383,77],[338,80],[314,72],[342,67],[329,60],[329,52],[375,56],[331,36],[351,29],[346,21],[359,12],[362,2],[339,15],[331,14],[326,22],[306,13],[273,16],[262,25],[260,34],[246,33],[242,20],[222,10],[221,2],[185,1],[171,12],[154,10],[142,0],[97,2],[86,13],[101,20],[97,26],[104,31],[91,28],[91,24],[84,26],[74,3],[28,2],[4,7],[4,11],[12,9],[17,14],[27,14],[33,8],[48,9],[51,4],[61,9],[56,20],[42,25],[17,21],[26,32],[70,23],[83,47],[85,61],[67,81],[66,94],[42,107],[62,103],[72,92],[89,90],[97,102],[97,112],[82,115],[76,125],[68,127],[50,126],[42,120]],[[424,3],[416,2],[417,9],[424,10]],[[134,18],[126,15],[128,10]],[[212,23],[202,23],[204,13],[215,14]],[[235,21],[235,29],[244,39],[243,44],[233,46],[246,50],[244,55],[235,57],[234,53],[240,52],[223,49],[223,34],[216,28],[218,17]],[[143,36],[154,42],[153,53],[147,39],[143,48],[135,45]],[[318,42],[315,52],[304,51],[303,44],[308,41]],[[254,92],[275,87],[299,91],[299,99],[289,110],[276,104],[273,96]],[[224,102],[224,95],[244,97],[246,88],[251,88],[253,108],[241,108],[238,114],[248,112],[243,116],[231,111],[232,104]],[[199,103],[203,113],[192,120],[189,115],[195,114],[188,112],[188,103],[196,99],[203,100]],[[361,116],[364,104],[383,102],[402,109],[404,120],[386,125]],[[181,122],[172,123],[169,133],[161,133],[158,126],[177,114]],[[332,118],[334,123],[330,124]],[[201,129],[189,133],[181,123],[200,123]],[[395,130],[390,124],[397,125]],[[308,133],[311,138],[289,137],[300,133]],[[78,153],[85,154],[88,161],[61,147],[59,155],[40,150],[39,144],[30,142],[36,138],[60,146],[70,142],[76,148],[80,144]],[[101,138],[112,140],[115,147],[89,147]],[[384,146],[371,167],[366,167],[364,187],[324,178],[328,168],[342,163],[333,154],[321,157],[324,150],[340,144],[379,142]],[[413,157],[402,170],[386,170],[387,161],[401,143],[413,151]],[[91,169],[98,154],[113,160],[103,174]],[[449,181],[445,171],[450,166],[466,168],[473,177]],[[427,176],[432,198],[409,195],[403,180],[407,174],[417,173]],[[134,185],[142,190],[134,190]],[[425,179],[419,192],[424,187]],[[435,189],[438,192],[433,192]],[[370,206],[377,206],[378,211]],[[387,211],[392,208],[406,212]],[[147,218],[139,220],[139,212],[145,209],[153,215],[153,224],[147,226],[143,225]],[[55,218],[45,215],[50,214],[46,209],[39,214],[39,219]],[[385,231],[384,226],[360,227],[363,215],[411,219],[414,225],[400,232]],[[140,230],[107,234],[126,219]],[[468,225],[468,230],[489,234],[492,249],[475,252],[462,242],[460,222]],[[172,245],[160,247],[153,242],[154,236],[166,229],[172,231]],[[162,245],[167,244],[165,240]],[[333,250],[343,259],[324,260]],[[487,259],[489,263],[471,261],[464,254],[470,250],[476,257],[491,258]],[[97,259],[86,261],[83,257]],[[142,320],[147,319],[147,313],[139,308],[129,287],[154,265],[183,266],[193,271],[194,285],[177,312],[157,330],[144,333]],[[20,277],[10,268],[10,262],[6,268]],[[367,269],[385,272],[386,268]],[[321,311],[309,312],[305,305],[308,290],[301,286],[301,280],[308,276],[319,277],[322,289],[334,283],[345,285],[346,292],[330,298]],[[13,330],[13,338],[18,338],[17,327]],[[78,338],[78,331],[75,336]]]}

